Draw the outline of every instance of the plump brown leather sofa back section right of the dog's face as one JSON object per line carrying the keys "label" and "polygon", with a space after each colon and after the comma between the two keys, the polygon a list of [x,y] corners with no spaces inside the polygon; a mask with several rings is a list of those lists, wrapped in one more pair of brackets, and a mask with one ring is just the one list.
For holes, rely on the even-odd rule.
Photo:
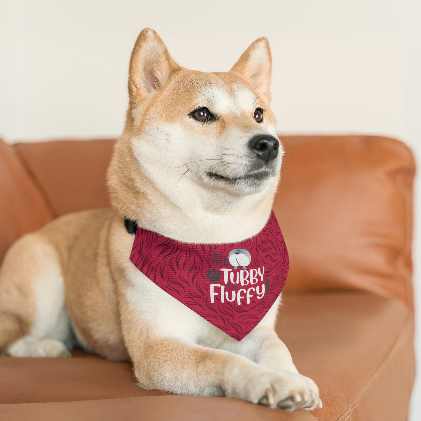
{"label": "plump brown leather sofa back section right of the dog's face", "polygon": [[288,136],[274,210],[285,291],[365,290],[412,307],[413,155],[380,136]]}

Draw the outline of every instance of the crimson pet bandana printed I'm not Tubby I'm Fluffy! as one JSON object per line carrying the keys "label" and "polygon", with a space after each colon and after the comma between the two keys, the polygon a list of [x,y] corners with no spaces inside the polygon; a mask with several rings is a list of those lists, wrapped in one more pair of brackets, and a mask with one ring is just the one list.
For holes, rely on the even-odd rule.
{"label": "crimson pet bandana printed I'm not Tubby I'm Fluffy!", "polygon": [[261,232],[229,244],[183,243],[139,227],[130,260],[165,292],[237,341],[268,312],[289,268],[273,211]]}

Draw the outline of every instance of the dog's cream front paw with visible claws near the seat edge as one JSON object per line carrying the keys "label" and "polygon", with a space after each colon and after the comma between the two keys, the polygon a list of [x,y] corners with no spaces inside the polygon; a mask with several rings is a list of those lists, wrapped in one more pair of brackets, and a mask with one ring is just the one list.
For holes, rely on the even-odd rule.
{"label": "dog's cream front paw with visible claws near the seat edge", "polygon": [[322,407],[314,381],[298,373],[265,370],[250,379],[245,389],[248,400],[260,405],[288,410]]}

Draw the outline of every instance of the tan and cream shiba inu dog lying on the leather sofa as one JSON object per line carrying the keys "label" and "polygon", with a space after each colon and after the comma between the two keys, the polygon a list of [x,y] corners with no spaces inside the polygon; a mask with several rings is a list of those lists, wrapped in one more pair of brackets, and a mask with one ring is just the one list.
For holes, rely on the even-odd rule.
{"label": "tan and cream shiba inu dog lying on the leather sofa", "polygon": [[[0,272],[4,353],[68,357],[78,344],[131,360],[146,389],[322,406],[274,331],[280,296],[236,341],[128,258],[133,235],[124,218],[186,243],[238,242],[262,230],[283,155],[273,136],[270,73],[266,38],[229,72],[203,73],[176,64],[152,29],[140,33],[125,127],[107,173],[112,209],[63,216],[11,247]],[[248,266],[246,254],[234,265]]]}

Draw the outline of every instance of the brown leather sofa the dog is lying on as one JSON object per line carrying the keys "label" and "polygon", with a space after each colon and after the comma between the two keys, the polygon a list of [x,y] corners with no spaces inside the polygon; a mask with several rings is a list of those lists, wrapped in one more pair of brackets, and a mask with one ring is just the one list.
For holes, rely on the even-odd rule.
{"label": "brown leather sofa the dog is lying on", "polygon": [[[0,357],[6,420],[405,420],[414,377],[414,160],[375,136],[282,137],[274,210],[290,253],[278,332],[323,408],[288,412],[136,386],[131,365]],[[0,142],[0,258],[57,216],[109,206],[112,139]]]}

